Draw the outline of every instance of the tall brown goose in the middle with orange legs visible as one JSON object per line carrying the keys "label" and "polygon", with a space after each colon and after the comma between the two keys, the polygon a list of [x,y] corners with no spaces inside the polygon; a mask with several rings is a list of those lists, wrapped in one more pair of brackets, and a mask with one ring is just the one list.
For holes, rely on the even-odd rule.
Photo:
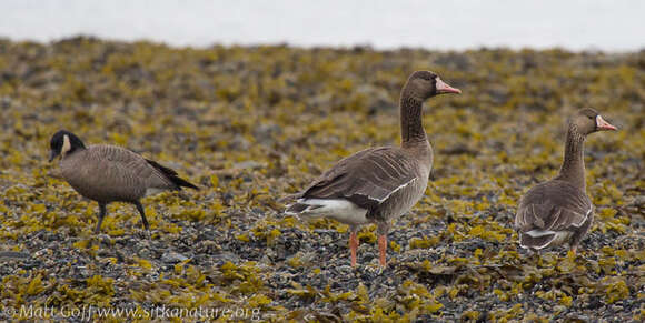
{"label": "tall brown goose in the middle with orange legs visible", "polygon": [[437,94],[460,92],[433,72],[414,72],[400,94],[401,147],[370,148],[340,160],[296,194],[297,202],[285,213],[327,216],[349,224],[353,266],[358,226],[376,223],[379,261],[385,266],[389,222],[424,195],[433,166],[433,149],[421,124],[423,102]]}

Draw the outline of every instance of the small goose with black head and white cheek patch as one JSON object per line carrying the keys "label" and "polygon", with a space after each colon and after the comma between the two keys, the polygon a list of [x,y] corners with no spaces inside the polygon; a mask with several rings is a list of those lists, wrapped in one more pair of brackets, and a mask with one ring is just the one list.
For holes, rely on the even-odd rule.
{"label": "small goose with black head and white cheek patch", "polygon": [[143,226],[149,232],[143,206],[139,201],[147,194],[181,188],[198,188],[179,178],[177,172],[147,160],[125,148],[96,144],[86,148],[73,133],[60,130],[51,137],[51,162],[58,155],[62,178],[81,195],[99,203],[99,222],[95,232],[101,229],[110,202],[128,202],[137,206]]}

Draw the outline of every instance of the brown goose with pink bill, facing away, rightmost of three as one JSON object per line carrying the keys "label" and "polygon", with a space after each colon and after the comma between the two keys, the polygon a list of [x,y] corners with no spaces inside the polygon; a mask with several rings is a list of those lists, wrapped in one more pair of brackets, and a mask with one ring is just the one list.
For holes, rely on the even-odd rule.
{"label": "brown goose with pink bill, facing away, rightmost of three", "polygon": [[559,174],[537,184],[522,200],[515,215],[519,245],[540,250],[568,242],[575,253],[594,221],[592,200],[585,192],[584,142],[589,133],[616,130],[591,108],[568,120],[564,161]]}

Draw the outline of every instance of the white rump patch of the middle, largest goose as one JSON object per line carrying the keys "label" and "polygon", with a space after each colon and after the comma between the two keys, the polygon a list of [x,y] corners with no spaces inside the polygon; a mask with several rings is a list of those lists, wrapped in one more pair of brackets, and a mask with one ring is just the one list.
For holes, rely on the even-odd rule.
{"label": "white rump patch of the middle, largest goose", "polygon": [[299,199],[298,203],[310,206],[299,213],[285,212],[285,214],[310,219],[331,218],[346,224],[365,224],[369,222],[365,216],[367,210],[358,208],[356,204],[344,199]]}

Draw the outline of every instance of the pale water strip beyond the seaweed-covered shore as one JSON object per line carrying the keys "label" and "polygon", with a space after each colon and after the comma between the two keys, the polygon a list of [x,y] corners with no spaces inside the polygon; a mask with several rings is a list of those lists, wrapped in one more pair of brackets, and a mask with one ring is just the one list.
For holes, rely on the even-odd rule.
{"label": "pale water strip beyond the seaweed-covered shore", "polygon": [[645,48],[642,0],[3,0],[0,12],[0,37],[42,42],[92,34],[179,47]]}

